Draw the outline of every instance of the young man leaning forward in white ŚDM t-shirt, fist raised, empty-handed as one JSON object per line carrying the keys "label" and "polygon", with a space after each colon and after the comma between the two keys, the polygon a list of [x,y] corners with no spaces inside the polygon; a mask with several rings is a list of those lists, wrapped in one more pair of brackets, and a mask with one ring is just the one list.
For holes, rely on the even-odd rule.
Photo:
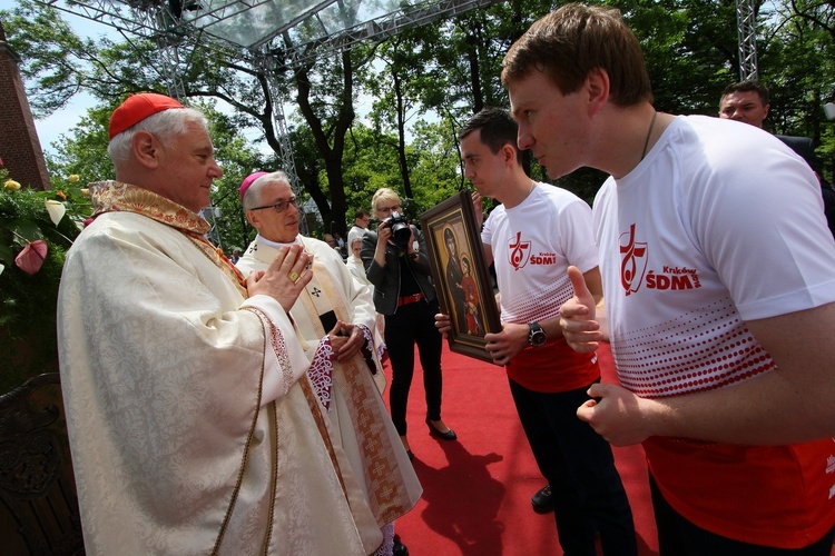
{"label": "young man leaning forward in white \u015aDM t-shirt, fist raised, empty-handed", "polygon": [[[835,524],[835,241],[817,181],[752,126],[658,113],[617,10],[567,4],[504,58],[519,147],[611,177],[595,237],[621,386],[578,409],[642,443],[662,555],[826,555]],[[566,339],[602,339],[577,269]]]}

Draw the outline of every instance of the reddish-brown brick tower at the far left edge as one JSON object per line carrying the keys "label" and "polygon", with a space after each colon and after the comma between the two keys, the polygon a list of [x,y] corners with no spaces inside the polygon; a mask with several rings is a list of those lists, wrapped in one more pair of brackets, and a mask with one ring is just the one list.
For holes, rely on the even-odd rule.
{"label": "reddish-brown brick tower at the far left edge", "polygon": [[47,163],[18,63],[0,22],[0,159],[16,181],[49,189]]}

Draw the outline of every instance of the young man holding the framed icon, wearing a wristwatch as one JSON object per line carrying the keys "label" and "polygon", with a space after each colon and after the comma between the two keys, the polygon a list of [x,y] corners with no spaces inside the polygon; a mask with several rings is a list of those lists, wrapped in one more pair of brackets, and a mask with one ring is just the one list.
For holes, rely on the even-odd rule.
{"label": "young man holding the framed icon, wearing a wristwatch", "polygon": [[[578,267],[600,298],[591,209],[576,195],[530,179],[515,145],[517,123],[487,108],[461,130],[464,175],[481,196],[501,202],[481,234],[488,264],[495,262],[502,331],[487,349],[508,373],[510,391],[542,475],[552,492],[566,554],[638,554],[635,524],[611,447],[576,416],[600,380],[595,354],[578,354],[562,338],[559,308],[573,296],[567,270]],[[450,319],[435,317],[446,331]],[[548,488],[548,487],[547,487]]]}

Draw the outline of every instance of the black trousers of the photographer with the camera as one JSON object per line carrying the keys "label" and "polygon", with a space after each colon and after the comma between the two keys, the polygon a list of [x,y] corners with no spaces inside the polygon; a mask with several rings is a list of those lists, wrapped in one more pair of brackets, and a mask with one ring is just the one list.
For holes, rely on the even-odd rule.
{"label": "black trousers of the photographer with the camera", "polygon": [[389,401],[392,421],[400,436],[406,434],[406,406],[409,390],[414,376],[414,345],[423,368],[423,388],[426,391],[426,417],[432,420],[441,418],[441,334],[435,328],[438,300],[418,302],[397,307],[394,315],[385,316],[385,346],[389,360],[392,363],[392,384],[389,388]]}

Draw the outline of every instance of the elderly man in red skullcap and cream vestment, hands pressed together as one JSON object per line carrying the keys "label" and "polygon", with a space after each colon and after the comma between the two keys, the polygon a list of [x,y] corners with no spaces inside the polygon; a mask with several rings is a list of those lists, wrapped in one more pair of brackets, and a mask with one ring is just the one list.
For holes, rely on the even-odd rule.
{"label": "elderly man in red skullcap and cream vestment, hands pressed together", "polygon": [[[58,306],[87,554],[374,553],[375,508],[288,316],[310,256],[279,249],[244,279],[205,239],[223,171],[200,112],[136,95],[109,131],[116,179],[90,187]],[[412,499],[389,470],[397,516]]]}

